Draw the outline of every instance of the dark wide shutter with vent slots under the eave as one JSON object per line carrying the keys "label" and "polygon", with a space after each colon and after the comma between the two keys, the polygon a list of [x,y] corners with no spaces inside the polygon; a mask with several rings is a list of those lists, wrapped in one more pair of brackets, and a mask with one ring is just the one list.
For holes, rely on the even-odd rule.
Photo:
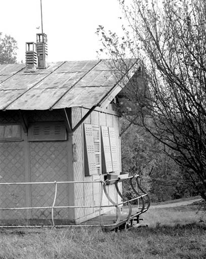
{"label": "dark wide shutter with vent slots under the eave", "polygon": [[66,127],[64,122],[34,122],[28,128],[29,141],[64,141]]}

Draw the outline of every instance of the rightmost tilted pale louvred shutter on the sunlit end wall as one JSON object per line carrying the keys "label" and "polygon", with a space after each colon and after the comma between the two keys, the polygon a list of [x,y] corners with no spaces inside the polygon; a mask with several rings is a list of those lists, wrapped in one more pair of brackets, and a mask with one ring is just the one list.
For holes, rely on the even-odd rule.
{"label": "rightmost tilted pale louvred shutter on the sunlit end wall", "polygon": [[112,160],[112,166],[113,171],[119,170],[119,161],[118,161],[118,154],[117,154],[117,148],[116,148],[116,137],[113,127],[108,127],[109,131],[109,141],[110,141],[110,149],[111,149],[111,160]]}

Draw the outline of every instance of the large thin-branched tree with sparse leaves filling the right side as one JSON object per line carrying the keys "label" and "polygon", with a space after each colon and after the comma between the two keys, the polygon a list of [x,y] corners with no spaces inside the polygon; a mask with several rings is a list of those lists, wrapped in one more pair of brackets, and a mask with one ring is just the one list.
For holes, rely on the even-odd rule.
{"label": "large thin-branched tree with sparse leaves filling the right side", "polygon": [[[128,76],[125,96],[130,121],[140,123],[182,167],[182,177],[206,200],[206,2],[132,0],[119,4],[127,18],[123,36],[99,26],[104,50],[116,76]],[[146,94],[127,74],[135,58],[143,71]],[[133,60],[134,62],[134,60]],[[129,86],[128,86],[129,85]],[[139,114],[137,119],[137,113]]]}

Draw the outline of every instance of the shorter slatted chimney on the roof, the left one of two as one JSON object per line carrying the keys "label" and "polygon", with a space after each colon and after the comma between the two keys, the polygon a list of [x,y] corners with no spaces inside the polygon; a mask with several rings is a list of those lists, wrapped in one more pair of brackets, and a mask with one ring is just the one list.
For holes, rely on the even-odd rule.
{"label": "shorter slatted chimney on the roof, the left one of two", "polygon": [[25,72],[34,72],[36,70],[36,44],[35,42],[26,42],[26,70]]}

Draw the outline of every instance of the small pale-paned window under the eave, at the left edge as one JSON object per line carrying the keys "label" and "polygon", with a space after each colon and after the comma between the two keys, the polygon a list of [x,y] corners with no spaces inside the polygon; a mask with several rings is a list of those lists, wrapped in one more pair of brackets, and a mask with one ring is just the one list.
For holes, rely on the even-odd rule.
{"label": "small pale-paned window under the eave, at the left edge", "polygon": [[0,141],[20,141],[21,125],[20,124],[1,124]]}

